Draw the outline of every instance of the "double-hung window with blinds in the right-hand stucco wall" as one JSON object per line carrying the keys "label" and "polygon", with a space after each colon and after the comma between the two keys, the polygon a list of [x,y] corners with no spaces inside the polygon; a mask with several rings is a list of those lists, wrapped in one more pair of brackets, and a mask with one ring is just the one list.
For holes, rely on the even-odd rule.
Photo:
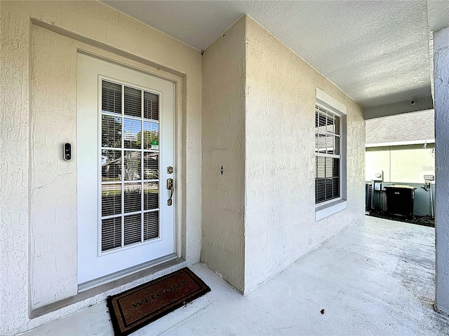
{"label": "double-hung window with blinds in the right-hand stucco wall", "polygon": [[315,203],[340,197],[341,118],[315,106]]}

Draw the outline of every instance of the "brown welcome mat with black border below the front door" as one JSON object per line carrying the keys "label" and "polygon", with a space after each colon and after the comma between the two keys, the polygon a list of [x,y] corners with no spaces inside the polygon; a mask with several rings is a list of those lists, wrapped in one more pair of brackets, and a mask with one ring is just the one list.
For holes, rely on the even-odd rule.
{"label": "brown welcome mat with black border below the front door", "polygon": [[209,286],[186,267],[109,296],[107,307],[114,334],[129,335],[209,291]]}

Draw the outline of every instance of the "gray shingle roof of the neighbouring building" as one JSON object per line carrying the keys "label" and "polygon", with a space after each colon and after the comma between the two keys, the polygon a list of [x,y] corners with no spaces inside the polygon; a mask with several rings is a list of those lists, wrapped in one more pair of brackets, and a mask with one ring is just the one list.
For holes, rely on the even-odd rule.
{"label": "gray shingle roof of the neighbouring building", "polygon": [[434,110],[368,119],[365,125],[366,145],[435,141]]}

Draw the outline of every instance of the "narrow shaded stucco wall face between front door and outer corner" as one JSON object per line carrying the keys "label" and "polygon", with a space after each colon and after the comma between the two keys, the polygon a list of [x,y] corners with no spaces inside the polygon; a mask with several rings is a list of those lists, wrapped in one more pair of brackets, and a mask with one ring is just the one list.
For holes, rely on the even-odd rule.
{"label": "narrow shaded stucco wall face between front door and outer corner", "polygon": [[[245,20],[203,56],[201,261],[243,292]],[[223,174],[220,169],[223,167]]]}

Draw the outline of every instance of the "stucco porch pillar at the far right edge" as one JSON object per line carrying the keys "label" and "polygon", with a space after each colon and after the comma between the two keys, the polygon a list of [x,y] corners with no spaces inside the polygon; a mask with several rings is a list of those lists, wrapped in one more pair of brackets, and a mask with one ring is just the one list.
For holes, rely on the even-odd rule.
{"label": "stucco porch pillar at the far right edge", "polygon": [[434,33],[436,309],[449,314],[449,27]]}

